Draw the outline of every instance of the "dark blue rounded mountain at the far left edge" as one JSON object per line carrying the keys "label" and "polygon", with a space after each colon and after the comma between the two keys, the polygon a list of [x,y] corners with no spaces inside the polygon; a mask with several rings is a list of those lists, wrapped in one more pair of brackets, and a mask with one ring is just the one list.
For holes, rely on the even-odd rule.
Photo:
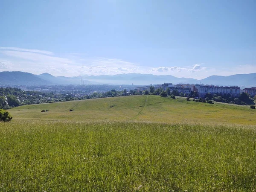
{"label": "dark blue rounded mountain at the far left edge", "polygon": [[1,85],[38,85],[52,84],[50,81],[41,79],[32,73],[24,73],[20,71],[3,71],[0,72]]}

